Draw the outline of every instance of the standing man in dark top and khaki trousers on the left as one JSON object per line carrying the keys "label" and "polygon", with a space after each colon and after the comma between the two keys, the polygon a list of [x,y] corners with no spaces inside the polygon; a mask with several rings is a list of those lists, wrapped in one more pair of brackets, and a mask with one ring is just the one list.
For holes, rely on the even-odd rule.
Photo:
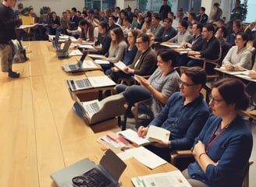
{"label": "standing man in dark top and khaki trousers on the left", "polygon": [[20,26],[20,18],[16,19],[12,7],[16,0],[4,0],[0,4],[0,62],[2,72],[8,72],[8,76],[19,78],[20,72],[12,72],[12,48],[9,42],[16,39],[15,27]]}

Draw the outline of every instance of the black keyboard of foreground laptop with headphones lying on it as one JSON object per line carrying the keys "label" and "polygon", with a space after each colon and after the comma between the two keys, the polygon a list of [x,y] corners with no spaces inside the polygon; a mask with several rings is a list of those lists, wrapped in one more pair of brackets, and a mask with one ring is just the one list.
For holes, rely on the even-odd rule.
{"label": "black keyboard of foreground laptop with headphones lying on it", "polygon": [[96,168],[77,176],[72,179],[75,187],[107,187],[111,184],[111,180],[98,171]]}

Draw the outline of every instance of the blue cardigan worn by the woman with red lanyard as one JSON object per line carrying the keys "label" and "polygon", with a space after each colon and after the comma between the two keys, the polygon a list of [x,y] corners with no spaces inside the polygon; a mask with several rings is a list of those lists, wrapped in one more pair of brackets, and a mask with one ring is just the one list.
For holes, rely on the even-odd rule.
{"label": "blue cardigan worn by the woman with red lanyard", "polygon": [[[251,156],[252,135],[244,119],[237,116],[221,135],[208,147],[209,140],[222,119],[218,116],[208,118],[204,128],[194,143],[201,140],[205,145],[205,152],[216,166],[209,164],[206,173],[201,170],[197,162],[187,168],[191,178],[206,183],[209,186],[233,186],[240,187],[244,181],[244,169],[247,167]],[[208,147],[208,149],[207,149]]]}

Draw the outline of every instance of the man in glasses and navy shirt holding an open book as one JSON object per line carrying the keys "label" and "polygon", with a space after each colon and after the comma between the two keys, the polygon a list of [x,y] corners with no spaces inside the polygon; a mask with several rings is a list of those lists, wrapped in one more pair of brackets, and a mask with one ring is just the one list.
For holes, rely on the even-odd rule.
{"label": "man in glasses and navy shirt holding an open book", "polygon": [[[185,68],[180,77],[180,92],[172,94],[165,107],[148,125],[160,126],[171,132],[169,141],[146,146],[148,150],[170,161],[172,150],[188,150],[208,119],[209,108],[200,93],[206,73],[199,67]],[[145,137],[148,126],[140,126],[138,135]]]}

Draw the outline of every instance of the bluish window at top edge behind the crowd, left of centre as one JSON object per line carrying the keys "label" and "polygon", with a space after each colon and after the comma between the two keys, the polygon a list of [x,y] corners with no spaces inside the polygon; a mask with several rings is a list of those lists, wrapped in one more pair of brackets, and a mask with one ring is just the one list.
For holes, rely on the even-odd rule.
{"label": "bluish window at top edge behind the crowd, left of centre", "polygon": [[106,8],[115,10],[116,0],[85,0],[85,6],[88,9],[98,8],[100,11],[103,11]]}

